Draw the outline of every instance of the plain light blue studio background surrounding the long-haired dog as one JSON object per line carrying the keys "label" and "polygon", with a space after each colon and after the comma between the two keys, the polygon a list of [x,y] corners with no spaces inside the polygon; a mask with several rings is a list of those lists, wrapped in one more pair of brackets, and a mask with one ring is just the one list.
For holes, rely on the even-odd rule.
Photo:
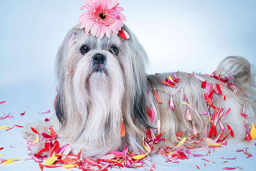
{"label": "plain light blue studio background surrounding the long-haired dog", "polygon": [[[256,65],[256,1],[119,3],[127,19],[124,23],[137,35],[150,57],[149,73],[179,70],[210,74],[230,55],[244,56]],[[7,100],[0,104],[0,116],[10,112],[14,116],[13,120],[0,120],[0,126],[24,125],[52,115],[38,112],[53,111],[55,55],[65,34],[78,24],[81,6],[82,0],[0,1],[0,101]],[[19,115],[24,111],[24,116]],[[0,158],[26,156],[26,142],[20,130],[15,130],[0,130],[0,147],[5,146],[0,154],[6,154]],[[11,143],[16,143],[16,147],[22,145],[15,151],[8,150]],[[197,169],[193,162],[189,167]],[[0,165],[0,170],[20,170],[23,165],[24,170],[29,170],[28,164],[19,163]],[[39,170],[36,163],[34,166]],[[181,165],[175,166],[181,170]]]}

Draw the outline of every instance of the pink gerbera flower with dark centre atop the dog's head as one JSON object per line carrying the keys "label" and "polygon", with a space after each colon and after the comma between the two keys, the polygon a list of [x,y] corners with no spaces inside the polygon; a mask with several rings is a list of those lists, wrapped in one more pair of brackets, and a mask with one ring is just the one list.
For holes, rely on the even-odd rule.
{"label": "pink gerbera flower with dark centre atop the dog's head", "polygon": [[117,7],[118,1],[115,0],[83,0],[84,3],[80,9],[89,11],[84,12],[78,23],[80,28],[91,32],[93,36],[102,38],[105,34],[110,38],[111,33],[118,34],[126,21],[125,16],[120,12],[123,8]]}

